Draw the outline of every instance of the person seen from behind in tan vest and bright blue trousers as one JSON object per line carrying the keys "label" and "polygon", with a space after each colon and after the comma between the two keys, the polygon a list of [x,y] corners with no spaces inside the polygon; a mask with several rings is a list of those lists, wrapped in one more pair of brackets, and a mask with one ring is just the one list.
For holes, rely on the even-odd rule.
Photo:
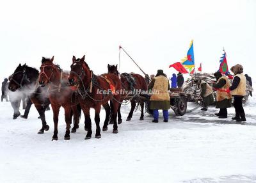
{"label": "person seen from behind in tan vest and bright blue trousers", "polygon": [[150,109],[153,110],[154,120],[152,122],[158,123],[158,110],[163,110],[164,122],[168,122],[168,109],[170,109],[170,85],[168,78],[163,70],[157,70],[156,77],[152,79],[148,85],[148,90],[152,90],[150,97]]}

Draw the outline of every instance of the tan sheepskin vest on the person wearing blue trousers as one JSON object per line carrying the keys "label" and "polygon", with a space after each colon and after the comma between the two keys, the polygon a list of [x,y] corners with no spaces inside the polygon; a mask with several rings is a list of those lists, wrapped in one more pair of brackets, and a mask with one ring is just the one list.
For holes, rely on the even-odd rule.
{"label": "tan sheepskin vest on the person wearing blue trousers", "polygon": [[150,97],[150,100],[170,100],[168,93],[168,84],[169,81],[164,76],[155,77],[155,83],[152,88],[153,94]]}

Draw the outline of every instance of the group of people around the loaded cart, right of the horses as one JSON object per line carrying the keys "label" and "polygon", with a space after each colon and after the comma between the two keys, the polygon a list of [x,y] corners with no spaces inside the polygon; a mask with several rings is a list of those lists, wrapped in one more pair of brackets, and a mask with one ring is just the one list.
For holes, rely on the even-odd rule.
{"label": "group of people around the loaded cart, right of the horses", "polygon": [[[243,74],[242,65],[234,65],[231,67],[231,71],[234,73],[232,84],[227,76],[221,74],[220,71],[214,73],[216,77],[216,83],[206,83],[202,79],[195,79],[195,83],[200,89],[200,97],[202,97],[203,107],[201,110],[207,111],[208,106],[215,104],[217,109],[220,109],[215,115],[218,118],[227,118],[227,108],[232,107],[232,97],[234,97],[234,108],[236,116],[232,120],[237,122],[245,122],[246,117],[243,109],[243,97],[246,96],[246,79],[252,86],[252,78]],[[170,96],[168,91],[170,90],[170,84],[166,74],[163,70],[158,70],[156,77],[151,77],[152,81],[149,84],[148,89],[153,91],[150,97],[150,109],[153,110],[154,120],[152,122],[158,122],[159,113],[158,110],[163,110],[164,122],[168,122],[168,109],[170,109]],[[170,77],[171,88],[180,88],[184,83],[184,77],[179,74],[172,74]],[[216,91],[216,101],[214,100],[214,91]],[[252,95],[252,93],[250,93]]]}

